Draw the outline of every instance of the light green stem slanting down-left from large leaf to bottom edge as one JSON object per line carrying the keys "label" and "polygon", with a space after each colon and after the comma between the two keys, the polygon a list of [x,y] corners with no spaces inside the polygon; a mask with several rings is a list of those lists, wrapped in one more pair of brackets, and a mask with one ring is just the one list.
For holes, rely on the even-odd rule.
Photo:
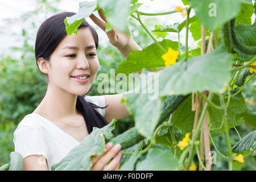
{"label": "light green stem slanting down-left from large leaf to bottom edge", "polygon": [[[213,97],[213,92],[210,92],[208,98],[209,98],[209,101],[212,100],[212,97]],[[200,128],[201,128],[201,125],[204,121],[204,116],[205,116],[205,113],[207,111],[207,107],[208,107],[208,102],[205,103],[205,106],[204,106],[204,109],[200,115],[200,119],[199,119],[199,122],[197,124],[197,128],[196,128],[196,132],[195,132],[195,138],[192,140],[192,149],[191,149],[191,155],[189,155],[189,158],[188,158],[188,166],[186,167],[186,170],[188,170],[188,168],[190,167],[191,165],[191,162],[192,162],[192,158],[193,158],[193,155],[195,153],[195,143],[194,141],[197,139],[197,137],[199,136],[200,134]]]}

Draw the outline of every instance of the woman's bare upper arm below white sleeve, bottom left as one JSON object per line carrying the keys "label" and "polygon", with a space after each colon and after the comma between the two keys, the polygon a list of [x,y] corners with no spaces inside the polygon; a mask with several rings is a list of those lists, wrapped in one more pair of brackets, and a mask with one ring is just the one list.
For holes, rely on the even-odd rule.
{"label": "woman's bare upper arm below white sleeve, bottom left", "polygon": [[48,171],[47,159],[43,155],[29,155],[23,160],[23,171]]}

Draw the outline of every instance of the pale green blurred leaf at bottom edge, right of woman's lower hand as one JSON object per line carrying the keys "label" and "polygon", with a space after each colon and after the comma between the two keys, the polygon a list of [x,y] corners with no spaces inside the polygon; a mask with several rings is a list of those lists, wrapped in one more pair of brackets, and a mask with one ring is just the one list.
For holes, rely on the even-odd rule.
{"label": "pale green blurred leaf at bottom edge, right of woman's lower hand", "polygon": [[146,158],[138,160],[136,171],[170,171],[179,167],[178,160],[171,154],[168,147],[164,149],[150,148]]}

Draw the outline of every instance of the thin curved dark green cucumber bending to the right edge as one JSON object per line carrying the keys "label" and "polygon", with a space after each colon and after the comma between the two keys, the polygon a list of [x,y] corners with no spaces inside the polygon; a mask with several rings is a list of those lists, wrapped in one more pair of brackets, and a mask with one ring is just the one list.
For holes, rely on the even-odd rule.
{"label": "thin curved dark green cucumber bending to the right edge", "polygon": [[231,35],[232,35],[232,42],[234,47],[236,47],[242,53],[246,53],[247,55],[256,55],[256,46],[246,46],[238,40],[236,35],[236,27],[235,27],[236,19],[233,18],[230,20],[230,28],[231,28]]}

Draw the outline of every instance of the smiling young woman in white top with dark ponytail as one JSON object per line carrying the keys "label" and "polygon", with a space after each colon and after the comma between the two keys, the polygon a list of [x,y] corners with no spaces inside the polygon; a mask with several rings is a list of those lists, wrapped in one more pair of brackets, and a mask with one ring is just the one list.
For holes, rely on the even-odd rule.
{"label": "smiling young woman in white top with dark ponytail", "polygon": [[[90,18],[102,30],[106,20],[93,14]],[[97,75],[98,35],[84,19],[77,35],[68,36],[64,19],[75,13],[60,13],[46,19],[39,27],[35,42],[36,64],[47,75],[47,92],[33,113],[20,121],[14,132],[15,151],[24,158],[23,170],[51,170],[68,152],[92,132],[113,118],[129,116],[122,94],[86,96]],[[141,47],[125,33],[112,29],[109,42],[127,57]],[[91,170],[117,170],[121,146],[106,144],[106,151],[93,156]],[[110,159],[112,162],[106,166]]]}

